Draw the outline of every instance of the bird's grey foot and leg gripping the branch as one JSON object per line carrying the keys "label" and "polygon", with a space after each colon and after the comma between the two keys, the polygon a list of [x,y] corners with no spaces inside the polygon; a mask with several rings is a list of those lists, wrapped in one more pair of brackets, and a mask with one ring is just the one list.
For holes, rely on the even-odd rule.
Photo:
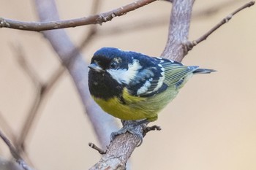
{"label": "bird's grey foot and leg gripping the branch", "polygon": [[[113,139],[115,139],[116,136],[118,135],[129,132],[130,134],[134,134],[140,138],[140,143],[138,144],[138,147],[139,147],[140,144],[142,144],[143,142],[143,133],[140,133],[140,131],[146,127],[146,124],[148,124],[149,121],[147,119],[144,119],[139,121],[135,120],[131,123],[130,121],[127,121],[127,120],[121,120],[121,123],[123,124],[123,128],[121,128],[119,131],[113,132],[110,135],[110,141],[113,141]],[[143,125],[143,128],[142,129],[138,128],[139,125]]]}

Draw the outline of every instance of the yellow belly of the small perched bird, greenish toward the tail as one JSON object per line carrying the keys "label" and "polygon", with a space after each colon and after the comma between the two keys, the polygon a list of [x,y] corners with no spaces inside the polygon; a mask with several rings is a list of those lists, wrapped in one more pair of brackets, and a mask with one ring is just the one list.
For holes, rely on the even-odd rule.
{"label": "yellow belly of the small perched bird, greenish toward the tail", "polygon": [[123,91],[125,104],[122,104],[117,97],[108,101],[102,98],[94,98],[94,101],[108,114],[118,117],[121,120],[157,120],[158,112],[163,109],[173,98],[178,90],[176,86],[168,87],[165,93],[159,93],[148,98],[130,96],[127,89]]}

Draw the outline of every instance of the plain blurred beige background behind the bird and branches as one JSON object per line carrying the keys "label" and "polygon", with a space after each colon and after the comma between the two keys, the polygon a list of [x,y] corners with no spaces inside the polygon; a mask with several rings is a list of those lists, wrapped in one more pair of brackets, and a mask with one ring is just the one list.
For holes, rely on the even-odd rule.
{"label": "plain blurred beige background behind the bird and branches", "polygon": [[[58,0],[61,19],[91,15],[93,0]],[[102,1],[107,12],[132,1]],[[197,39],[247,1],[195,1],[189,39]],[[37,20],[34,1],[0,0],[0,16]],[[159,56],[167,41],[171,4],[155,1],[98,26],[83,47],[86,61],[100,47],[119,47]],[[217,9],[208,14],[210,9]],[[152,131],[132,154],[132,169],[255,170],[256,169],[256,7],[239,12],[229,23],[197,45],[184,58],[186,65],[216,69],[198,75],[159,115],[162,131]],[[67,28],[80,45],[90,26]],[[37,89],[17,58],[20,54],[39,82],[59,68],[59,58],[42,34],[0,29],[0,128],[10,138],[20,135]],[[87,75],[84,75],[87,76]],[[118,120],[117,120],[118,121]],[[46,96],[26,138],[26,158],[35,169],[89,169],[100,155],[88,147],[97,143],[80,98],[67,72]],[[0,140],[0,155],[10,152]]]}

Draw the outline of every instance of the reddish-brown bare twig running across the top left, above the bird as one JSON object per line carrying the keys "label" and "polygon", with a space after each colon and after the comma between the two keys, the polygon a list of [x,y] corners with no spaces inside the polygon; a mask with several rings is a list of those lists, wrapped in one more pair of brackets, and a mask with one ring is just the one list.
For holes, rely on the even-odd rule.
{"label": "reddish-brown bare twig running across the top left, above the bird", "polygon": [[113,9],[109,12],[103,12],[98,15],[91,15],[89,17],[76,18],[72,20],[56,20],[48,22],[22,22],[18,20],[10,20],[7,18],[0,18],[0,28],[14,28],[26,31],[45,31],[60,28],[70,28],[76,26],[86,26],[89,24],[102,24],[112,20],[115,17],[125,15],[127,12],[133,11],[140,7],[156,0],[137,0],[124,7]]}

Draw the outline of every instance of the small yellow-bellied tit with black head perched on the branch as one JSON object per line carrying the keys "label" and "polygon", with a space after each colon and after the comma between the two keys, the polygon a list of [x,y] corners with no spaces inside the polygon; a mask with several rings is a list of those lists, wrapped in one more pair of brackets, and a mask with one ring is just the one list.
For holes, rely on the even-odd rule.
{"label": "small yellow-bellied tit with black head perched on the branch", "polygon": [[159,111],[193,74],[214,72],[113,47],[97,50],[89,69],[89,90],[94,101],[114,117],[141,123],[157,120]]}

